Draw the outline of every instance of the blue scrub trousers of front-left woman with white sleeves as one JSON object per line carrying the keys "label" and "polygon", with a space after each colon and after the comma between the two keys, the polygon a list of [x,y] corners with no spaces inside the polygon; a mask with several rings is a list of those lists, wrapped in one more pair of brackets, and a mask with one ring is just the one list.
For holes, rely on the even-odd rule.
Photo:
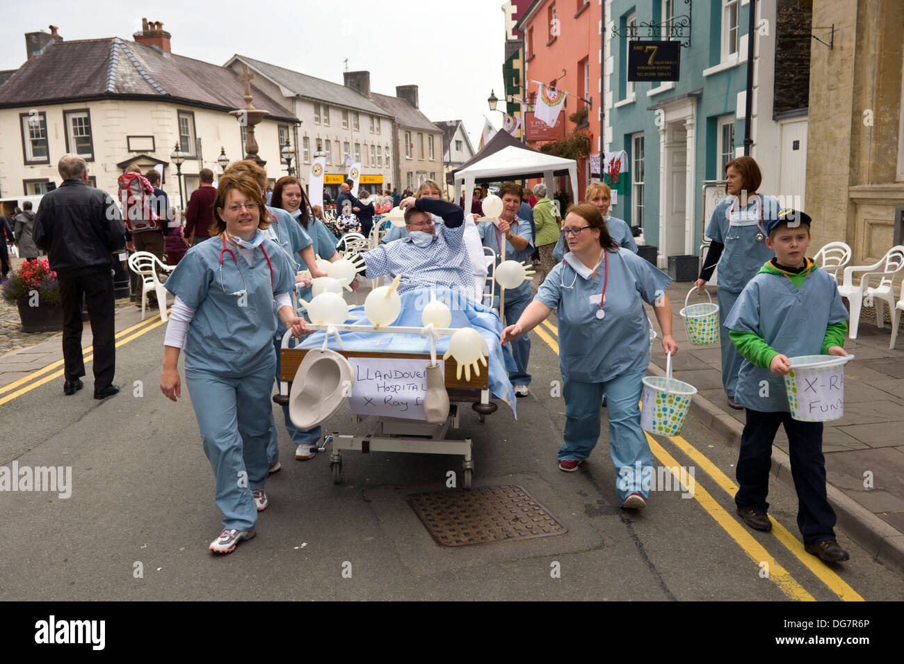
{"label": "blue scrub trousers of front-left woman with white sleeves", "polygon": [[249,530],[258,520],[251,489],[263,489],[267,479],[273,364],[240,378],[186,369],[185,384],[213,469],[223,528]]}

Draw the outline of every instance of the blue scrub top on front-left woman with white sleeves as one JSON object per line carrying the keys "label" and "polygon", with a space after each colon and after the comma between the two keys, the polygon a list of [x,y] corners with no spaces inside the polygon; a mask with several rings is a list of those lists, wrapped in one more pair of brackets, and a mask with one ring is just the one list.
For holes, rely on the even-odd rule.
{"label": "blue scrub top on front-left woman with white sleeves", "polygon": [[[235,260],[229,251],[222,252],[222,286],[221,237],[190,248],[165,286],[194,309],[185,338],[185,370],[240,378],[272,360],[277,327],[273,295],[294,288],[296,270],[273,240],[265,239],[254,249],[253,266],[229,243],[226,246]],[[264,251],[273,269],[272,286]],[[245,296],[230,295],[242,289],[247,289]]]}

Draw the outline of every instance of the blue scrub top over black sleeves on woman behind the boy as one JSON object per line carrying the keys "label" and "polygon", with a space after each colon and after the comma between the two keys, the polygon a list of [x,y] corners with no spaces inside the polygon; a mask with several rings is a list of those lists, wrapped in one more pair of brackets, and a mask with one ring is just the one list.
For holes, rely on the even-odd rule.
{"label": "blue scrub top over black sleeves on woman behind the boy", "polygon": [[[763,201],[762,228],[766,228],[766,221],[775,219],[778,214],[778,201],[772,196],[761,196]],[[766,246],[766,233],[760,231],[758,223],[759,215],[754,215],[757,220],[743,222],[729,221],[729,213],[734,203],[735,211],[757,210],[758,201],[751,197],[748,205],[740,206],[735,202],[735,197],[730,196],[721,201],[712,211],[710,223],[706,227],[706,237],[725,245],[722,256],[719,259],[719,287],[732,293],[740,293],[758,272],[763,264],[775,257],[772,249]],[[761,234],[762,239],[757,239]],[[710,266],[703,266],[710,267]]]}

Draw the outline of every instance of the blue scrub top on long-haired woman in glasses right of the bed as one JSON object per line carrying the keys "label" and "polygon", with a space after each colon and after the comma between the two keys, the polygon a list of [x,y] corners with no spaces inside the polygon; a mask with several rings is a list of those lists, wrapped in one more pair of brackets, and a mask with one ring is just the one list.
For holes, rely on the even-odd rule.
{"label": "blue scrub top on long-haired woman in glasses right of the bed", "polygon": [[[604,317],[597,318],[606,279],[600,263],[585,279],[567,261],[553,267],[534,300],[558,307],[562,376],[598,383],[645,369],[650,361],[650,325],[644,302],[655,305],[672,278],[626,248],[606,252],[608,282]],[[569,257],[568,260],[577,260]]]}

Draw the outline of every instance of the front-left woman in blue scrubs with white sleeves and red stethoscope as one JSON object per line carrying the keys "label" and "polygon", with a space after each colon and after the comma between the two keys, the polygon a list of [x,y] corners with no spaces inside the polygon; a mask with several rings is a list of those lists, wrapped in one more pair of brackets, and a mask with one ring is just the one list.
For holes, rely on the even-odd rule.
{"label": "front-left woman in blue scrubs with white sleeves and red stethoscope", "polygon": [[223,530],[210,550],[221,554],[254,537],[257,513],[269,504],[264,484],[277,327],[271,312],[295,336],[306,332],[289,295],[295,265],[264,237],[270,223],[264,210],[254,178],[224,174],[214,199],[211,229],[217,237],[191,248],[166,280],[175,302],[160,389],[173,401],[182,396],[178,361],[184,347],[185,383],[223,514]]}

